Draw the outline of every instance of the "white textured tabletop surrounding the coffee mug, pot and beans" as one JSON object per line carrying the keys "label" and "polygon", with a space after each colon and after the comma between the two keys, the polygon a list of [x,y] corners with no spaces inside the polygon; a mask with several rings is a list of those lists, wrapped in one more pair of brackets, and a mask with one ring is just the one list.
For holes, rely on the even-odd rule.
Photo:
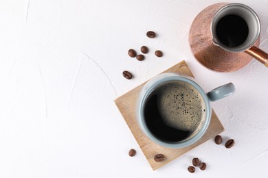
{"label": "white textured tabletop surrounding the coffee mug, pot and beans", "polygon": [[[267,177],[268,69],[253,60],[214,73],[188,45],[194,17],[217,2],[0,1],[0,177]],[[257,12],[268,51],[268,1],[236,2]],[[146,38],[148,30],[159,36]],[[129,58],[142,45],[146,59]],[[153,171],[113,100],[181,60],[205,90],[236,85],[232,97],[212,103],[224,142],[236,144],[209,140]],[[124,70],[135,77],[124,79]],[[208,169],[188,173],[192,157]]]}

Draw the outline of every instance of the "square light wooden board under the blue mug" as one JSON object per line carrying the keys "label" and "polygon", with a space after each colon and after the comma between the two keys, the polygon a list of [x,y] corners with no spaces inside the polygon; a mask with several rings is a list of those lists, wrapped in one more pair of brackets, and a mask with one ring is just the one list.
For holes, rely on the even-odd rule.
{"label": "square light wooden board under the blue mug", "polygon": [[[175,66],[172,66],[171,68],[168,68],[168,70],[164,71],[164,73],[168,72],[181,73],[184,75],[194,77],[185,61],[182,61],[179,64],[176,64]],[[145,83],[146,82],[144,82],[144,84]],[[155,142],[151,141],[142,132],[142,130],[139,129],[139,125],[137,123],[137,119],[135,116],[135,106],[137,96],[139,94],[139,91],[144,86],[144,84],[137,86],[133,90],[127,92],[126,94],[123,94],[121,97],[118,97],[118,99],[115,99],[115,104],[118,106],[118,109],[120,110],[122,116],[124,117],[126,124],[129,126],[129,129],[131,129],[131,132],[133,133],[135,140],[139,144],[139,147],[142,149],[142,152],[144,153],[146,159],[148,160],[153,170],[156,170],[157,168],[160,168],[161,166],[168,164],[168,162],[171,162],[180,155],[183,155],[184,153],[190,151],[194,147],[199,146],[199,144],[209,140],[210,138],[213,138],[214,136],[224,131],[223,125],[221,125],[219,118],[216,116],[214,110],[212,110],[212,118],[210,120],[210,125],[205,134],[203,135],[203,137],[199,141],[195,142],[190,147],[186,147],[183,149],[170,149],[161,147],[159,144],[156,144]],[[163,162],[155,162],[154,160],[154,156],[159,153],[165,155],[166,157],[166,159]]]}

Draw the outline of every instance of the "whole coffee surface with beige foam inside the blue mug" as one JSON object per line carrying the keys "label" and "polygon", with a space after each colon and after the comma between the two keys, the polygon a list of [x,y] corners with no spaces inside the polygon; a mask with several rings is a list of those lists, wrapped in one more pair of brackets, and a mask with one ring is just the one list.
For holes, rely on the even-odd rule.
{"label": "whole coffee surface with beige foam inside the blue mug", "polygon": [[151,133],[166,142],[194,136],[205,120],[205,103],[194,86],[184,81],[166,81],[149,94],[144,118]]}

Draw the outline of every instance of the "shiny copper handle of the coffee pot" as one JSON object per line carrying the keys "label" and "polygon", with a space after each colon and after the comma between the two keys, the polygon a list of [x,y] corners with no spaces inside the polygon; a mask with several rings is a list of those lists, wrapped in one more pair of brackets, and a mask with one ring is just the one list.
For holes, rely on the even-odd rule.
{"label": "shiny copper handle of the coffee pot", "polygon": [[245,51],[245,53],[251,55],[253,58],[259,62],[265,64],[268,67],[268,54],[265,51],[259,49],[258,47],[251,47]]}

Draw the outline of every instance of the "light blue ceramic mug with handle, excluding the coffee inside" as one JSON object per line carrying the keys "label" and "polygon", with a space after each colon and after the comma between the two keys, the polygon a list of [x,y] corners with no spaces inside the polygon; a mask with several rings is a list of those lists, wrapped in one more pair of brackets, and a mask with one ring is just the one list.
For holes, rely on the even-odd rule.
{"label": "light blue ceramic mug with handle, excluding the coffee inside", "polygon": [[[187,83],[187,85],[194,87],[196,91],[199,92],[199,96],[201,96],[201,99],[204,103],[205,107],[205,114],[202,120],[202,123],[198,130],[192,132],[187,138],[171,142],[168,140],[165,140],[163,138],[159,138],[159,136],[156,136],[157,134],[153,133],[150,130],[150,127],[148,125],[148,122],[146,122],[146,117],[144,116],[145,108],[146,108],[146,101],[148,100],[148,97],[150,94],[157,88],[159,85],[164,84],[165,82],[172,82],[172,81],[181,81]],[[142,131],[150,138],[150,140],[153,140],[153,142],[168,148],[183,148],[188,147],[191,144],[194,144],[194,142],[197,142],[205,133],[206,129],[208,129],[208,125],[210,125],[210,118],[212,115],[212,108],[210,105],[211,101],[216,101],[219,99],[222,99],[224,97],[229,96],[230,94],[234,93],[235,88],[234,84],[229,83],[225,84],[223,86],[219,86],[218,88],[215,88],[214,90],[210,92],[205,92],[201,86],[199,86],[195,81],[194,78],[188,77],[186,75],[181,75],[177,73],[163,73],[160,75],[157,75],[156,77],[153,77],[148,81],[144,87],[142,88],[141,92],[139,93],[139,97],[137,99],[137,105],[136,105],[136,116],[137,121],[139,123],[139,127],[142,129]],[[152,113],[153,114],[153,113]]]}

